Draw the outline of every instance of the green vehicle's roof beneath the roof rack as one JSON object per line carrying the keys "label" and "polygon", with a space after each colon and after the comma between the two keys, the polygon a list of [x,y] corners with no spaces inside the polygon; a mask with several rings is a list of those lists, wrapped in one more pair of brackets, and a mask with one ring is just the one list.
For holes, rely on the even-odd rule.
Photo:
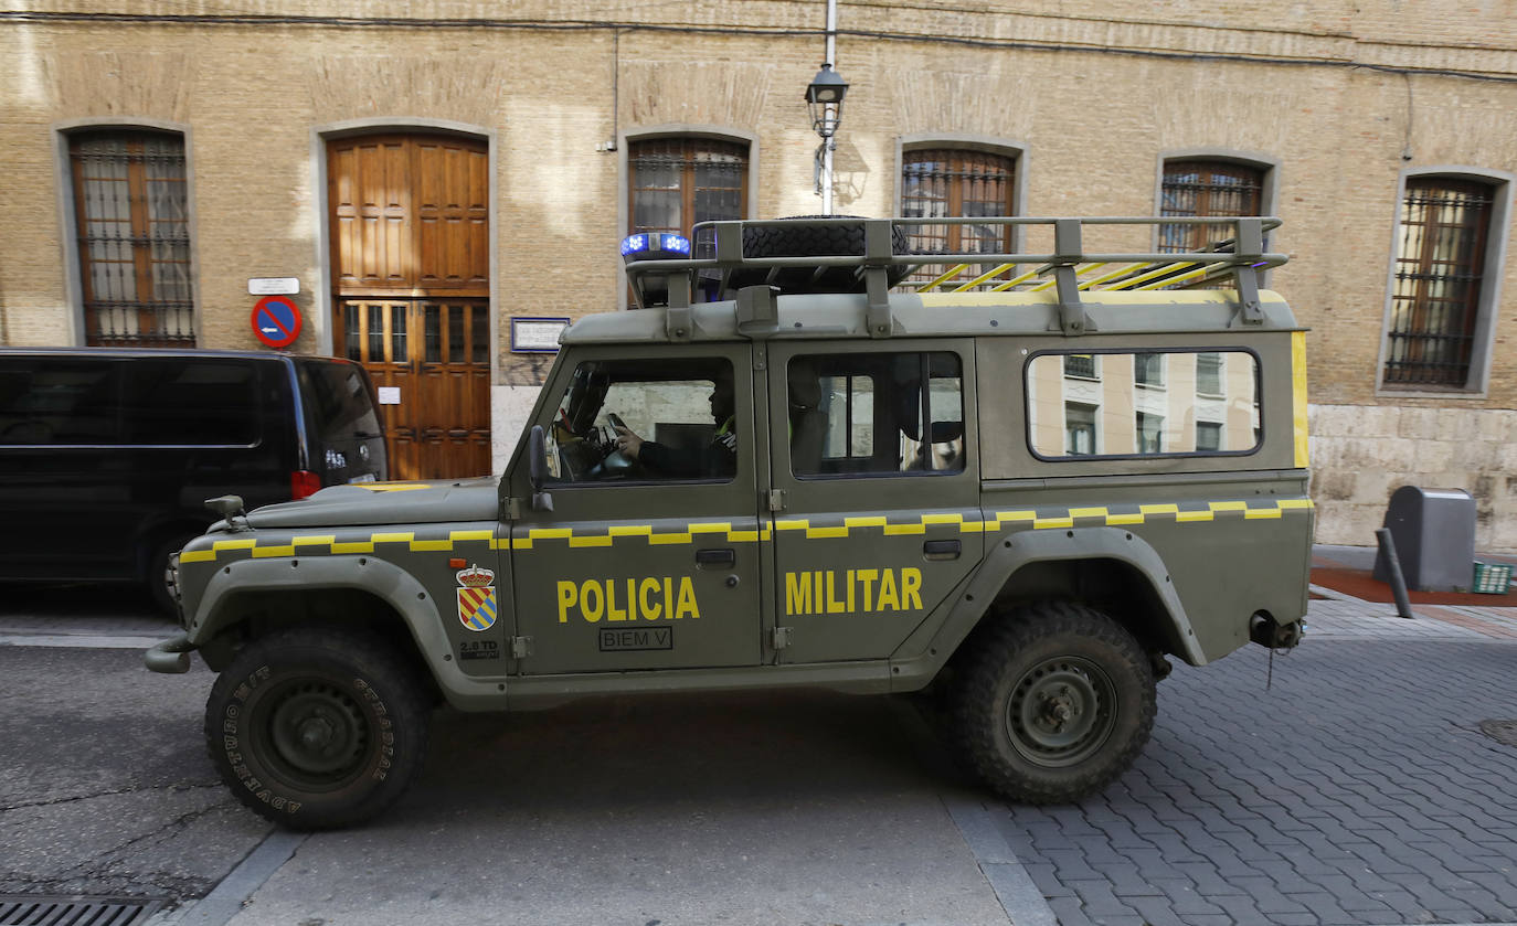
{"label": "green vehicle's roof beneath the roof rack", "polygon": [[[1233,289],[1165,289],[1156,293],[1088,291],[1082,306],[1091,320],[1091,335],[1177,333],[1229,330],[1300,330],[1289,305],[1277,293],[1259,291],[1262,321],[1245,329]],[[692,341],[742,339],[860,339],[868,299],[863,294],[818,293],[778,296],[777,321],[766,326],[737,324],[737,302],[690,306]],[[1030,336],[1057,333],[1059,297],[1041,293],[894,293],[892,336],[963,338]],[[887,341],[884,338],[883,341]],[[569,326],[563,344],[671,343],[664,309],[631,309],[586,315]],[[1079,338],[1071,338],[1079,344]]]}

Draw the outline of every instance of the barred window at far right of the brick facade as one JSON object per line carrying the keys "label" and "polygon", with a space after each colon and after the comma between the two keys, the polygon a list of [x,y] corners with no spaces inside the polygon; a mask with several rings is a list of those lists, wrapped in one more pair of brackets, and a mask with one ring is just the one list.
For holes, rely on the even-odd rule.
{"label": "barred window at far right of the brick facade", "polygon": [[1485,273],[1491,188],[1444,177],[1408,182],[1397,229],[1385,385],[1462,388]]}

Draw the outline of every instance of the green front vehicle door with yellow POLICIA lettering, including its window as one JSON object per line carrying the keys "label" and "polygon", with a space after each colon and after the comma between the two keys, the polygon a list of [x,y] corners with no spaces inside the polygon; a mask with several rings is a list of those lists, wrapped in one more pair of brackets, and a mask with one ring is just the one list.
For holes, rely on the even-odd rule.
{"label": "green front vehicle door with yellow POLICIA lettering, including its window", "polygon": [[[733,408],[716,420],[724,377]],[[757,664],[751,347],[576,349],[545,389],[531,424],[548,433],[552,509],[523,503],[510,523],[522,671]],[[636,459],[611,452],[613,421],[646,441]]]}

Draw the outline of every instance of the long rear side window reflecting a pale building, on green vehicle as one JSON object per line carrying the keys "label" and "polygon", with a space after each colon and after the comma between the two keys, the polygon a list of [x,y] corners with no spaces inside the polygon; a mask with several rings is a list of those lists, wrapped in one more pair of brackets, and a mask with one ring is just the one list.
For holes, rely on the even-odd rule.
{"label": "long rear side window reflecting a pale building, on green vehicle", "polygon": [[[1098,379],[1088,376],[1097,362]],[[1027,427],[1045,459],[1252,453],[1259,361],[1247,350],[1041,353],[1027,365]]]}

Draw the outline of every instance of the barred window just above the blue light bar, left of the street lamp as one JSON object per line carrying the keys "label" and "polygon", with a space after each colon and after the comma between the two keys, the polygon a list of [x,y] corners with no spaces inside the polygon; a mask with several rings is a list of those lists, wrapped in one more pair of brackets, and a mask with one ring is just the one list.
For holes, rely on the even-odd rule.
{"label": "barred window just above the blue light bar, left of the street lamp", "polygon": [[[711,138],[634,141],[628,164],[630,235],[687,235],[699,221],[746,218],[746,144]],[[716,256],[715,232],[702,232],[693,244],[692,256]]]}

